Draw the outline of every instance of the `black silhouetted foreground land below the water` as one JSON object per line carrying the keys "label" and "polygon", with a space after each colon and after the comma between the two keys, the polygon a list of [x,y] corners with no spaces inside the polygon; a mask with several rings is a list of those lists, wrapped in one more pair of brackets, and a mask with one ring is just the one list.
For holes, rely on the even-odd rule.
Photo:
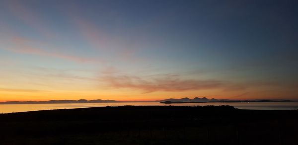
{"label": "black silhouetted foreground land below the water", "polygon": [[123,106],[0,114],[0,145],[298,145],[298,110]]}

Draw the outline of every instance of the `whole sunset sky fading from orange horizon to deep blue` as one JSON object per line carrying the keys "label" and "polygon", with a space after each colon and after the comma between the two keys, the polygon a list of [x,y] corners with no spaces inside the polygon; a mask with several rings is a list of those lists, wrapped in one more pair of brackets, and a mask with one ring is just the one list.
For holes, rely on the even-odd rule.
{"label": "whole sunset sky fading from orange horizon to deep blue", "polygon": [[0,0],[0,101],[298,99],[297,0]]}

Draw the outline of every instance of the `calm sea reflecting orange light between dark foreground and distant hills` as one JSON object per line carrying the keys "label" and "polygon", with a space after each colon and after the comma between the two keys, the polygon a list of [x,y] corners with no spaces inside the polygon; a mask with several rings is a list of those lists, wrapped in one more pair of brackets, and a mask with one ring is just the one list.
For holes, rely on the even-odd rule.
{"label": "calm sea reflecting orange light between dark foreground and distant hills", "polygon": [[121,103],[74,103],[74,104],[0,104],[0,113],[25,112],[52,109],[71,109],[104,106],[205,106],[205,105],[230,105],[238,109],[256,110],[293,110],[298,109],[298,102],[259,102],[259,103],[185,103],[185,104],[160,104],[158,102],[121,102]]}

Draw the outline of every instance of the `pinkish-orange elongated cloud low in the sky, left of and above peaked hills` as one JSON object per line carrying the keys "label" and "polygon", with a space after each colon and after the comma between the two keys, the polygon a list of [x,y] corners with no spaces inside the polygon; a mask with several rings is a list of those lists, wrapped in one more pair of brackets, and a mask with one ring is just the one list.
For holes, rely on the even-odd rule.
{"label": "pinkish-orange elongated cloud low in the sky, left of and above peaked hills", "polygon": [[100,80],[112,88],[138,89],[145,91],[145,93],[214,89],[223,85],[223,82],[218,80],[181,79],[178,75],[161,75],[148,78],[112,73],[103,76]]}

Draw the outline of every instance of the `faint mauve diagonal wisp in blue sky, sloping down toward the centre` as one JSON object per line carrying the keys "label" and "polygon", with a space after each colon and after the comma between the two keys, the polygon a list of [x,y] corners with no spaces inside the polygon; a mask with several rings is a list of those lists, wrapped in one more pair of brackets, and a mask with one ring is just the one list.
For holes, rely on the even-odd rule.
{"label": "faint mauve diagonal wisp in blue sky, sloping down toward the centre", "polygon": [[100,53],[111,53],[114,60],[121,59],[121,61],[130,62],[144,60],[136,55],[142,47],[139,38],[132,39],[131,36],[123,37],[109,33],[103,28],[102,23],[84,16],[85,11],[74,3],[63,7],[62,11],[80,33],[82,39],[94,50]]}

